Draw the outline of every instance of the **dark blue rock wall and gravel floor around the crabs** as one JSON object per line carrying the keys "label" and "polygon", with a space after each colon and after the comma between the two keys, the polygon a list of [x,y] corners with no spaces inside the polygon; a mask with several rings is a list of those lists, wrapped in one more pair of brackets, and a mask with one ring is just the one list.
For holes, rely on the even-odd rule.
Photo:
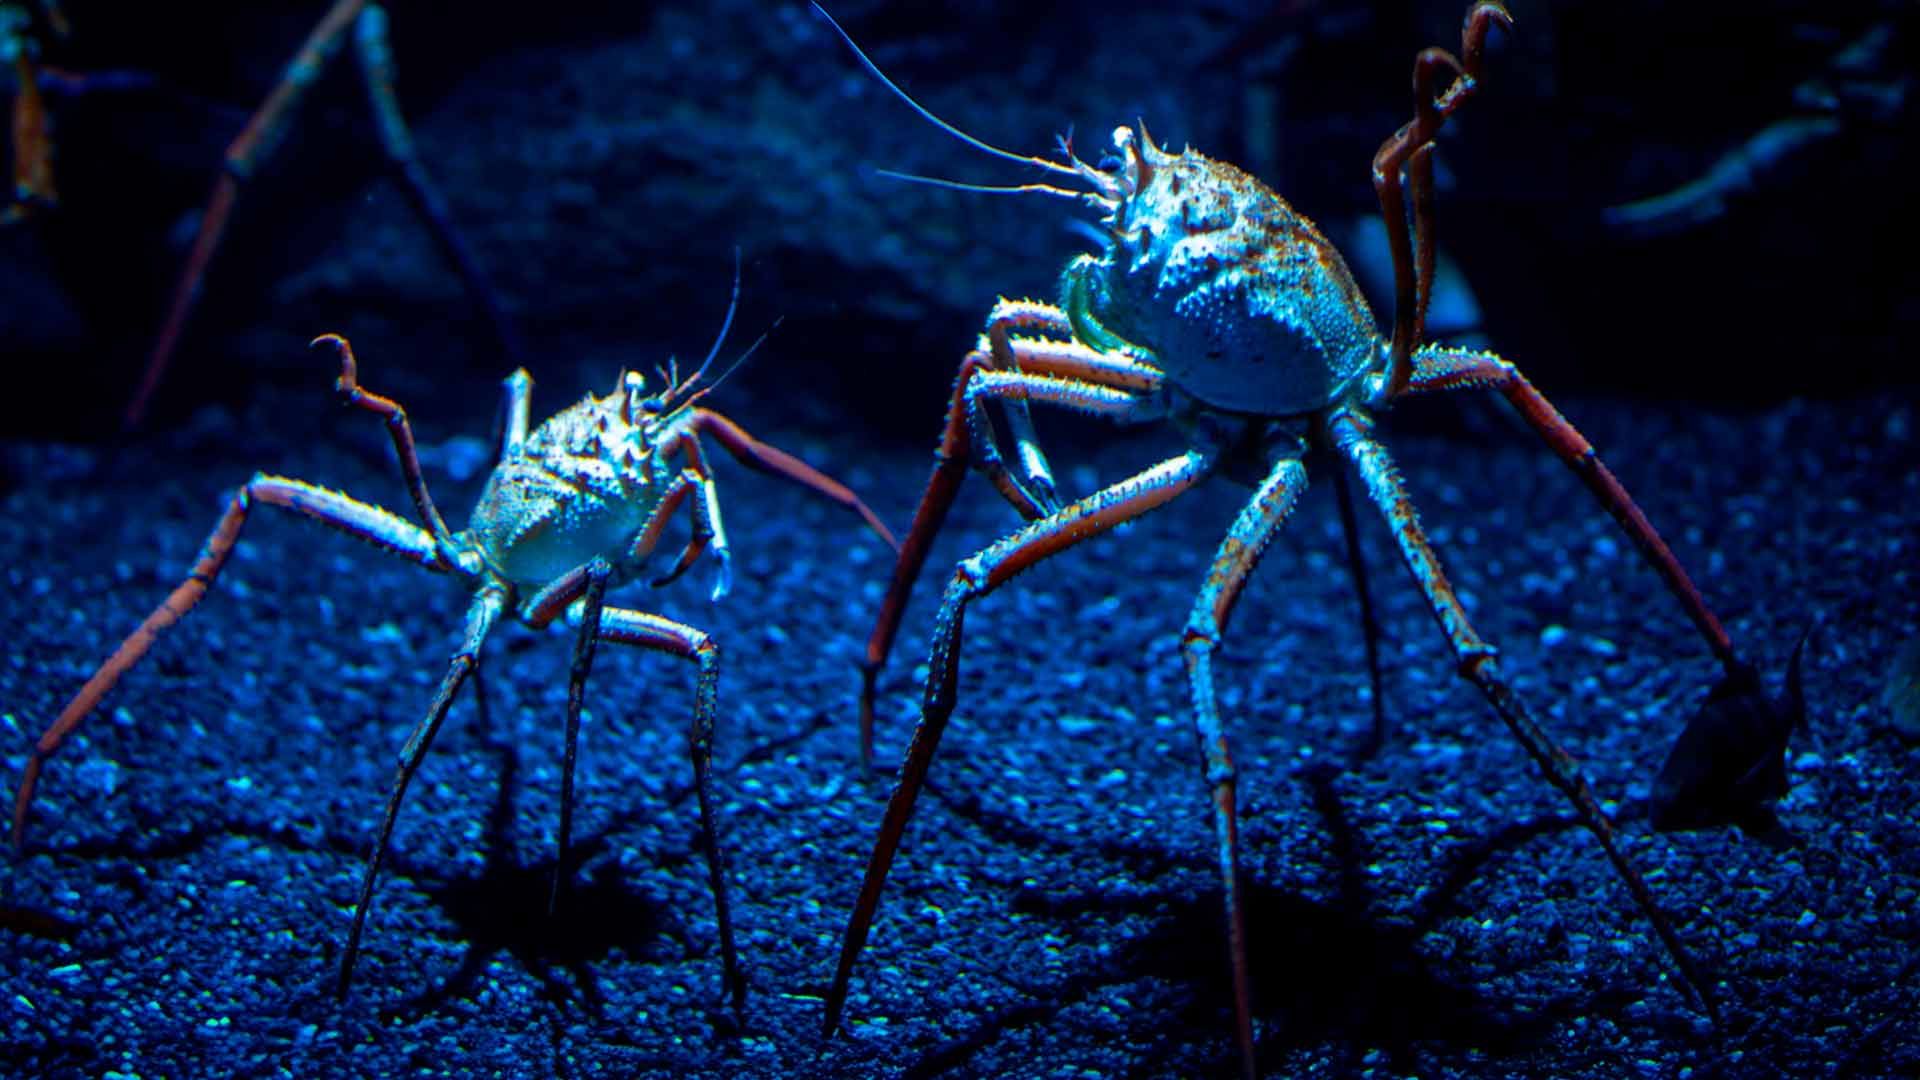
{"label": "dark blue rock wall and gravel floor around the crabs", "polygon": [[[835,4],[948,121],[1092,156],[1116,123],[1240,161],[1348,240],[1459,2]],[[179,582],[253,469],[405,509],[407,404],[465,521],[515,363],[536,419],[622,367],[707,352],[745,263],[712,404],[912,515],[962,352],[998,294],[1048,298],[1071,208],[874,169],[1018,183],[866,77],[806,6],[394,4],[399,96],[518,329],[505,356],[388,175],[344,52],[242,196],[148,427],[119,430],[227,140],[321,4],[86,4],[48,63],[134,75],[56,96],[61,206],[0,233],[0,738],[17,769],[98,659]],[[1788,749],[1784,849],[1659,836],[1645,798],[1716,676],[1576,480],[1476,396],[1382,423],[1480,630],[1617,811],[1715,972],[1709,1030],[1596,846],[1452,676],[1361,528],[1386,634],[1388,746],[1331,484],[1235,617],[1261,1061],[1281,1076],[1907,1076],[1920,1063],[1916,678],[1920,323],[1910,4],[1517,2],[1440,150],[1440,236],[1478,332],[1592,436],[1778,690],[1818,623]],[[1880,37],[1870,37],[1880,35]],[[1862,38],[1870,61],[1836,65]],[[1826,104],[1820,104],[1826,102]],[[1782,119],[1834,135],[1682,229],[1605,211],[1711,173]],[[1371,252],[1371,254],[1369,254]],[[1377,306],[1384,321],[1388,311]],[[1046,413],[1073,494],[1177,450]],[[1177,636],[1244,490],[1208,484],[970,615],[960,713],[908,830],[851,1026],[826,992],[887,794],[852,738],[852,661],[889,559],[728,461],[737,586],[707,567],[616,601],[726,650],[716,782],[747,1011],[718,957],[680,730],[689,675],[603,650],[563,917],[553,867],[563,634],[501,630],[490,709],[455,707],[376,894],[359,980],[332,965],[394,751],[467,598],[261,513],[215,594],[52,761],[4,871],[0,1070],[17,1074],[1212,1076],[1231,1003]],[[1365,513],[1365,509],[1363,509]],[[914,719],[939,578],[1014,525],[970,484],[881,682],[879,761]],[[1903,646],[1908,648],[1903,653]],[[1901,655],[1908,659],[1899,659]],[[1901,665],[1907,667],[1901,667]]]}

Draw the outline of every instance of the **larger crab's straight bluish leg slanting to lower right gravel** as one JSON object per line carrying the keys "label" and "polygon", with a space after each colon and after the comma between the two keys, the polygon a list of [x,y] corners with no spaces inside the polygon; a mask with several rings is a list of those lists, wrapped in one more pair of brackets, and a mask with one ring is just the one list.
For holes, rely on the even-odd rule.
{"label": "larger crab's straight bluish leg slanting to lower right gravel", "polygon": [[1674,965],[1680,969],[1682,982],[1707,1009],[1707,1015],[1718,1022],[1718,1007],[1707,994],[1707,982],[1699,976],[1692,955],[1686,951],[1680,936],[1667,920],[1667,915],[1653,903],[1653,894],[1647,890],[1647,882],[1620,851],[1619,840],[1613,834],[1613,824],[1607,821],[1605,811],[1599,809],[1599,799],[1594,798],[1594,790],[1580,774],[1580,767],[1565,749],[1561,749],[1557,742],[1553,742],[1553,736],[1540,728],[1540,724],[1532,719],[1526,705],[1500,675],[1500,663],[1496,659],[1498,650],[1480,640],[1473,625],[1467,621],[1467,609],[1461,607],[1459,598],[1453,596],[1453,586],[1440,571],[1440,559],[1434,555],[1432,546],[1428,546],[1427,532],[1421,530],[1413,513],[1413,500],[1407,498],[1405,486],[1400,482],[1398,473],[1394,473],[1394,463],[1388,457],[1386,448],[1375,442],[1373,436],[1367,434],[1363,421],[1352,413],[1332,421],[1332,436],[1340,446],[1340,452],[1354,461],[1354,467],[1359,471],[1359,479],[1367,484],[1367,494],[1373,496],[1375,505],[1380,507],[1380,513],[1386,515],[1388,525],[1394,528],[1394,540],[1400,544],[1400,553],[1405,557],[1407,569],[1413,573],[1413,580],[1419,582],[1421,592],[1427,594],[1427,603],[1432,607],[1434,619],[1440,621],[1440,628],[1446,632],[1448,644],[1453,646],[1453,655],[1459,657],[1461,676],[1486,694],[1494,711],[1500,713],[1500,719],[1507,724],[1507,730],[1521,740],[1521,746],[1534,759],[1546,778],[1559,788],[1580,813],[1582,822],[1586,822],[1586,826],[1599,840],[1599,846],[1607,851],[1607,861],[1613,863],[1615,872],[1620,874],[1628,892],[1634,894],[1634,901],[1653,922],[1653,930],[1659,934],[1667,951],[1672,955]]}

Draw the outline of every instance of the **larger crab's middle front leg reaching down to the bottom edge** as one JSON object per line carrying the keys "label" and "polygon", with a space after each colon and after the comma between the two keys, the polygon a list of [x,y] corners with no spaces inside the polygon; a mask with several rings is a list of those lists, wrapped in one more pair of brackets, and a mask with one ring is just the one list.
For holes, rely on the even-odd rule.
{"label": "larger crab's middle front leg reaching down to the bottom edge", "polygon": [[1240,1068],[1248,1080],[1254,1067],[1254,1013],[1246,986],[1246,913],[1240,907],[1240,838],[1235,821],[1235,771],[1227,749],[1227,724],[1219,719],[1213,700],[1213,651],[1221,632],[1240,600],[1246,578],[1254,573],[1260,553],[1292,513],[1300,492],[1308,486],[1308,471],[1298,457],[1273,465],[1254,498],[1233,521],[1227,538],[1213,555],[1213,567],[1194,598],[1187,632],[1181,634],[1181,655],[1187,657],[1187,684],[1194,700],[1194,740],[1206,765],[1206,782],[1213,798],[1213,834],[1219,844],[1219,876],[1227,894],[1227,953],[1233,961],[1233,1019],[1240,1038]]}

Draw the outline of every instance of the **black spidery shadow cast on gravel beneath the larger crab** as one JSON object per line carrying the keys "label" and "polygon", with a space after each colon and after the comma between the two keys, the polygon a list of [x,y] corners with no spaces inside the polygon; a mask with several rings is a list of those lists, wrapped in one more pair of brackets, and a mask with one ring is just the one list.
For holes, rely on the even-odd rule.
{"label": "black spidery shadow cast on gravel beneath the larger crab", "polygon": [[[1613,986],[1503,1007],[1484,990],[1436,972],[1438,965],[1421,953],[1419,944],[1427,932],[1459,911],[1459,894],[1501,851],[1519,849],[1548,834],[1578,830],[1576,817],[1546,815],[1507,822],[1467,844],[1444,867],[1430,869],[1427,876],[1432,884],[1413,905],[1411,917],[1388,922],[1375,915],[1379,905],[1365,872],[1373,859],[1334,790],[1338,769],[1308,769],[1300,778],[1332,836],[1331,857],[1340,888],[1327,901],[1271,882],[1244,884],[1248,959],[1252,970],[1260,972],[1254,1015],[1265,1028],[1261,1057],[1281,1061],[1283,1051],[1332,1043],[1338,1047],[1336,1074],[1357,1074],[1363,1049],[1380,1047],[1390,1068],[1417,1072],[1417,1043],[1471,1045],[1494,1059],[1524,1055],[1565,1020],[1619,1015],[1640,997],[1634,988]],[[985,807],[977,798],[956,792],[941,792],[937,798],[998,842],[1039,849],[1062,846],[1060,840]],[[1100,844],[1100,853],[1140,871],[1142,880],[1181,865],[1167,851],[1144,851],[1127,844]],[[964,1068],[1004,1032],[1056,1022],[1062,1013],[1102,988],[1142,976],[1187,990],[1183,1005],[1160,1013],[1158,1024],[1167,1036],[1169,1055],[1171,1047],[1190,1042],[1196,1032],[1225,1030],[1231,1022],[1233,980],[1219,942],[1219,897],[1212,890],[1198,896],[1112,896],[1023,888],[1014,896],[1012,907],[1023,917],[1058,922],[1144,915],[1152,919],[1152,928],[1116,949],[1096,969],[1083,969],[1058,984],[1023,988],[1031,1003],[983,1017],[972,1032],[925,1051],[906,1076],[931,1078]],[[1139,1065],[1140,1074],[1156,1074],[1156,1063]],[[1160,1065],[1171,1065],[1171,1057]],[[1221,1057],[1221,1068],[1229,1065]]]}

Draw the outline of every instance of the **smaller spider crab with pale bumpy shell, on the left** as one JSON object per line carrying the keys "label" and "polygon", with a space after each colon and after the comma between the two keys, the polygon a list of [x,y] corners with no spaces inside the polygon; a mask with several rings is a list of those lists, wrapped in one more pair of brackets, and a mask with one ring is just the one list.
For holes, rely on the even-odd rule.
{"label": "smaller spider crab with pale bumpy shell, on the left", "polygon": [[[221,567],[240,540],[240,530],[255,505],[275,505],[305,515],[357,536],[374,548],[392,552],[428,571],[453,575],[474,590],[467,609],[467,630],[459,651],[447,665],[426,715],[407,734],[399,751],[399,771],[386,801],[380,832],[367,859],[359,899],[353,905],[353,926],[340,957],[336,992],[344,997],[353,976],[361,930],[372,905],[374,882],[399,803],[407,784],[426,757],[459,694],[461,684],[480,665],[480,646],[505,615],[528,626],[543,628],[557,619],[576,626],[572,669],[566,684],[566,751],[561,773],[559,861],[555,863],[555,896],[566,867],[566,846],[572,824],[574,749],[580,736],[580,709],[588,673],[599,642],[637,646],[662,651],[695,665],[695,711],[687,728],[687,749],[693,759],[695,792],[701,805],[701,830],[707,844],[707,874],[714,894],[714,917],[720,934],[720,953],[726,986],[733,1003],[745,999],[733,951],[733,926],[728,913],[726,861],[714,828],[712,736],[720,690],[720,648],[703,630],[647,611],[611,607],[607,592],[630,580],[651,580],[660,586],[678,578],[703,552],[718,561],[712,596],[728,590],[728,542],[720,523],[720,496],[701,438],[712,438],[741,463],[785,477],[820,496],[860,515],[889,548],[899,550],[893,534],[847,486],[826,477],[804,461],[768,446],[724,415],[697,405],[718,380],[701,386],[701,379],[733,321],[739,302],[739,273],[733,277],[733,304],[726,325],[707,359],[687,379],[664,375],[664,384],[647,388],[636,371],[620,373],[611,394],[588,396],[559,411],[547,423],[528,432],[528,400],[532,379],[524,369],[505,380],[505,430],[499,463],[486,482],[480,502],[465,530],[453,532],[440,517],[415,454],[413,429],[407,413],[390,398],[372,394],[359,384],[353,348],[338,334],[324,334],[313,344],[330,346],[340,357],[340,379],[334,382],[340,398],[374,413],[386,423],[399,455],[401,473],[419,523],[346,494],[332,492],[286,477],[253,475],[234,492],[227,513],[186,580],[140,623],[109,655],[92,678],[46,728],[33,748],[13,799],[13,846],[25,840],[27,815],[35,784],[46,759],[60,749],[69,734],[86,719],[121,675],[152,650],[169,626],[186,617],[205,598]],[[758,344],[758,342],[755,342]],[[747,350],[749,354],[753,348]],[[745,356],[741,356],[745,359]],[[737,361],[735,361],[737,363]],[[655,555],[672,519],[687,511],[691,536],[670,567],[659,571]]]}

